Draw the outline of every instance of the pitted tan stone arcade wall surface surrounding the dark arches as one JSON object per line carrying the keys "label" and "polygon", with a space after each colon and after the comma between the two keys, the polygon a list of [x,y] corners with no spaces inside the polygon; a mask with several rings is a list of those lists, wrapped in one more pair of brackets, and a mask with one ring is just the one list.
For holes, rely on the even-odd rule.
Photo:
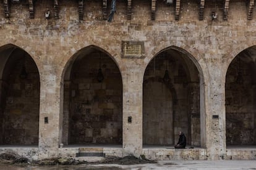
{"label": "pitted tan stone arcade wall surface surrounding the dark arches", "polygon": [[[45,19],[48,7],[53,14],[52,1],[36,1],[33,19],[29,18],[25,1],[12,4],[11,17],[4,18],[4,6],[1,2],[1,57],[4,56],[7,44],[20,47],[35,61],[40,75],[38,158],[57,156],[59,144],[64,141],[64,137],[67,142],[67,130],[62,127],[70,127],[66,121],[67,102],[63,102],[64,105],[62,99],[63,90],[69,91],[64,88],[64,84],[70,83],[71,86],[71,82],[65,82],[64,75],[74,56],[88,46],[103,49],[112,57],[122,75],[123,155],[139,156],[142,153],[145,69],[160,52],[173,49],[181,52],[197,68],[198,72],[194,73],[198,74],[190,76],[197,75],[197,79],[191,78],[191,83],[198,83],[198,78],[200,79],[200,99],[198,92],[192,95],[195,101],[200,100],[200,107],[197,107],[198,103],[190,101],[186,102],[190,106],[181,105],[182,108],[187,107],[188,112],[193,110],[192,124],[197,124],[200,119],[200,130],[191,126],[191,131],[195,134],[200,131],[200,146],[206,148],[204,154],[207,159],[225,158],[226,117],[228,118],[225,108],[226,72],[231,61],[241,51],[256,45],[256,22],[255,15],[252,15],[252,20],[247,20],[245,1],[230,1],[228,20],[224,21],[222,2],[206,1],[203,20],[198,20],[198,1],[181,1],[179,20],[176,21],[174,6],[166,6],[163,1],[157,1],[155,20],[151,20],[150,1],[133,1],[132,17],[127,20],[127,1],[118,1],[113,22],[102,20],[101,1],[85,1],[83,21],[79,21],[77,1],[60,1],[59,20],[55,20],[53,15],[49,20]],[[110,6],[108,14],[109,9]],[[218,13],[216,20],[211,19],[213,10]],[[122,41],[144,42],[143,57],[124,58]],[[255,54],[248,55],[255,58]],[[255,63],[255,60],[252,61]],[[2,63],[0,65],[2,68]],[[177,70],[178,68],[175,73]],[[194,68],[188,67],[187,70]],[[198,86],[195,87],[198,91]],[[186,93],[191,94],[191,91]],[[253,98],[255,108],[255,96]],[[179,110],[174,105],[173,108]],[[174,115],[176,113],[177,111]],[[127,122],[130,116],[132,123]],[[45,123],[45,118],[48,118],[48,123]],[[194,135],[192,140],[193,137]],[[199,143],[198,135],[194,141]]]}

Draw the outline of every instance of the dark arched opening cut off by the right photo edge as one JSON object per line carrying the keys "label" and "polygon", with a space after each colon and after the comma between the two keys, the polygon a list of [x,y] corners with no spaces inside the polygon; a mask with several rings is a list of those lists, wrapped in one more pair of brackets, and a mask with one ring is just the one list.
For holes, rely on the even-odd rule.
{"label": "dark arched opening cut off by the right photo edge", "polygon": [[226,73],[226,144],[256,145],[256,46],[240,52]]}

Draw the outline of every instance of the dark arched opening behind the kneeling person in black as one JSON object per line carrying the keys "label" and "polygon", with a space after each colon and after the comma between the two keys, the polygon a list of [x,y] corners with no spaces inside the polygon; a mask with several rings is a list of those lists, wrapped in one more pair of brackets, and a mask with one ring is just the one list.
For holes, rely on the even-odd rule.
{"label": "dark arched opening behind the kneeling person in black", "polygon": [[169,48],[148,64],[143,78],[143,147],[173,146],[179,131],[200,147],[200,78],[188,54]]}

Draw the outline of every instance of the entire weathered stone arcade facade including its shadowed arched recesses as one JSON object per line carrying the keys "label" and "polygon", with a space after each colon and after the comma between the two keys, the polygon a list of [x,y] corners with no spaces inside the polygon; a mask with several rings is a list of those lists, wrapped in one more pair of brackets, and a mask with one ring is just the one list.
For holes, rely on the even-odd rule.
{"label": "entire weathered stone arcade facade including its shadowed arched recesses", "polygon": [[[105,150],[256,159],[252,1],[117,1],[112,22],[104,20],[111,1],[28,2],[0,3],[0,152],[21,150],[4,145],[36,145],[23,155],[41,159],[67,156],[60,144],[122,144]],[[124,41],[143,42],[131,46],[143,54],[127,57]],[[179,131],[187,147],[200,148],[145,148],[174,145]]]}

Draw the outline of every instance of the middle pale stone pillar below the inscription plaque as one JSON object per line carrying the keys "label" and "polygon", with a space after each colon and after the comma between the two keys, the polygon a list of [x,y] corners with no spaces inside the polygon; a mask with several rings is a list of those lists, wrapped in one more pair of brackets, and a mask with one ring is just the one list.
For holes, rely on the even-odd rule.
{"label": "middle pale stone pillar below the inscription plaque", "polygon": [[[132,60],[130,60],[132,62]],[[142,153],[142,91],[143,71],[137,63],[126,63],[123,77],[123,156]]]}

